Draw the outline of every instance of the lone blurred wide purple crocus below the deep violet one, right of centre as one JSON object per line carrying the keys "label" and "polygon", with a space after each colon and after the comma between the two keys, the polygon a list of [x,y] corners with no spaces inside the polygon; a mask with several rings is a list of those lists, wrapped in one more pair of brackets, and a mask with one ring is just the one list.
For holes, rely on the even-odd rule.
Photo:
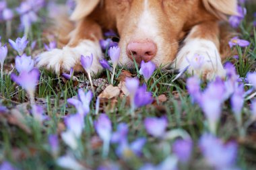
{"label": "lone blurred wide purple crocus below the deep violet one, right of centre", "polygon": [[148,134],[151,134],[156,138],[162,138],[162,136],[164,136],[167,125],[168,125],[168,122],[164,117],[146,118],[146,120],[144,120],[144,126]]}

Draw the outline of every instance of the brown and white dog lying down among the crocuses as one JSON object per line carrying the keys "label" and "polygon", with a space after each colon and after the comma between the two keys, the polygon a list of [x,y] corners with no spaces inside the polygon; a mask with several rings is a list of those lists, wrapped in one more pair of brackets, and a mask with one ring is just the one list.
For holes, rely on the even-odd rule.
{"label": "brown and white dog lying down among the crocuses", "polygon": [[[55,73],[82,71],[81,55],[92,53],[92,73],[102,71],[99,60],[102,32],[114,30],[120,36],[119,65],[134,68],[133,58],[140,64],[152,61],[157,67],[185,69],[195,54],[205,56],[199,71],[188,73],[205,79],[224,77],[222,60],[228,42],[220,22],[236,15],[236,0],[76,0],[76,7],[66,24],[59,24],[59,43],[63,48],[42,52],[38,67]],[[58,20],[61,20],[58,18]],[[209,62],[210,61],[210,62]]]}

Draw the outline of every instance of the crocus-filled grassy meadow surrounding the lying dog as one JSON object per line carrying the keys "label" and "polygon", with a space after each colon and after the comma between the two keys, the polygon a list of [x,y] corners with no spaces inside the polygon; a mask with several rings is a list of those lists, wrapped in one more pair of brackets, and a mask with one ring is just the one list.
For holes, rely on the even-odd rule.
{"label": "crocus-filled grassy meadow surrounding the lying dog", "polygon": [[0,0],[0,170],[256,169],[255,2],[230,17],[236,54],[213,81],[150,63],[115,69],[113,32],[92,81],[37,69],[33,58],[57,46],[44,34],[53,5]]}

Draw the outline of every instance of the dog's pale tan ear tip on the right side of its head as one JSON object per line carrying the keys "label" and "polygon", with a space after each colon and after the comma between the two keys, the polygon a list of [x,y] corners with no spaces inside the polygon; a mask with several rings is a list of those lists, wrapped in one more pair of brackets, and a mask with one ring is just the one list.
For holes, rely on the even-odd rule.
{"label": "dog's pale tan ear tip on the right side of its head", "polygon": [[203,0],[203,5],[221,19],[226,19],[226,15],[237,15],[237,0]]}

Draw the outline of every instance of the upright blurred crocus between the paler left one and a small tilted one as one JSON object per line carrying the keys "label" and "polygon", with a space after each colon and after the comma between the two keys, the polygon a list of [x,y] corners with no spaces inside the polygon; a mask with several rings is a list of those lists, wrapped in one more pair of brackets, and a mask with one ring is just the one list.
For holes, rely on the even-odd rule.
{"label": "upright blurred crocus between the paler left one and a small tilted one", "polygon": [[96,129],[96,132],[103,141],[110,141],[112,126],[111,121],[108,118],[108,116],[106,116],[106,114],[101,114],[99,116],[98,120],[94,122],[94,127]]}

